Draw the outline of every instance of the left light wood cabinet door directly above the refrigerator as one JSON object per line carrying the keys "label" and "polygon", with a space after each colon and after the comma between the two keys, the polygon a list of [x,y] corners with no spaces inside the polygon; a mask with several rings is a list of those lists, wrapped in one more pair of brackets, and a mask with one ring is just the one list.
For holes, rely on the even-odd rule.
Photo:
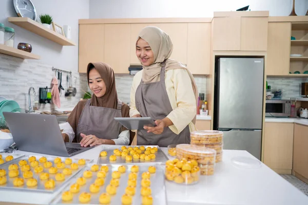
{"label": "left light wood cabinet door directly above the refrigerator", "polygon": [[217,17],[213,25],[214,51],[239,51],[241,17]]}

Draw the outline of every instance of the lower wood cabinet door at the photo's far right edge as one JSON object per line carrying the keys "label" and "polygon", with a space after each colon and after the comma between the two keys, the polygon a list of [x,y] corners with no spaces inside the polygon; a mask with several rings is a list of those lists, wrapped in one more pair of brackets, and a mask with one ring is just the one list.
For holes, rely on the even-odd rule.
{"label": "lower wood cabinet door at the photo's far right edge", "polygon": [[308,178],[308,126],[294,125],[293,170]]}

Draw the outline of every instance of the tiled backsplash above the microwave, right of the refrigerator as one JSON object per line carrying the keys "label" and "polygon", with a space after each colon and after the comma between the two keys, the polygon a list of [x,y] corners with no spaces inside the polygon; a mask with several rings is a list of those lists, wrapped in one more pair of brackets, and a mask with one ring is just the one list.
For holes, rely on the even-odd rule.
{"label": "tiled backsplash above the microwave, right of the refrigerator", "polygon": [[282,90],[283,97],[300,97],[301,83],[308,83],[308,78],[267,77],[271,90]]}

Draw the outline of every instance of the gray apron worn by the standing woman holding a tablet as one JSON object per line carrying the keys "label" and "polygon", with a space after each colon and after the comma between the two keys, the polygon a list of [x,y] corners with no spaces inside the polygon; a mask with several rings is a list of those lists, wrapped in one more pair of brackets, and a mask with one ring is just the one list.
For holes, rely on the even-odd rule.
{"label": "gray apron worn by the standing woman holding a tablet", "polygon": [[[165,61],[162,63],[160,81],[144,84],[142,79],[136,90],[136,108],[142,117],[151,117],[154,120],[165,118],[172,107],[165,85]],[[180,133],[175,134],[168,127],[162,134],[147,133],[146,130],[138,130],[137,145],[158,145],[167,147],[171,144],[190,144],[189,126]]]}

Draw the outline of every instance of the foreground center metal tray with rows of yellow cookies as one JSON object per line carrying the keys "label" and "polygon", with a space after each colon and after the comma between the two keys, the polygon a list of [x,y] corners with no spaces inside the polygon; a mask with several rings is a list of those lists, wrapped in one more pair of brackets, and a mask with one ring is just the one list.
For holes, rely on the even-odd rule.
{"label": "foreground center metal tray with rows of yellow cookies", "polygon": [[159,204],[166,202],[164,166],[88,164],[51,204]]}

